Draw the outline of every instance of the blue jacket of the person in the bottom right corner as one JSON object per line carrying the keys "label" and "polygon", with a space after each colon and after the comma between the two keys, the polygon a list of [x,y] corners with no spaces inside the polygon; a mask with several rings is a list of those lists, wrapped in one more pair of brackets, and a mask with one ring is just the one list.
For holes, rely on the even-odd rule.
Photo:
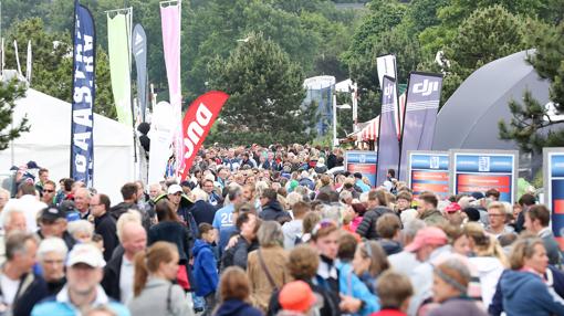
{"label": "blue jacket of the person in the bottom right corner", "polygon": [[564,315],[564,303],[554,299],[540,276],[530,272],[506,271],[500,283],[503,307],[509,316]]}

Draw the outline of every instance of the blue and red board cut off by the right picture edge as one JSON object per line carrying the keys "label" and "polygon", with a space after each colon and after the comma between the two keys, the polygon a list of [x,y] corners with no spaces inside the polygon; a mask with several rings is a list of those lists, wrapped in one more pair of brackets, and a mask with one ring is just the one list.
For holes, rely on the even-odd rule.
{"label": "blue and red board cut off by the right picture edge", "polygon": [[552,211],[552,232],[564,250],[564,148],[543,148],[544,204]]}

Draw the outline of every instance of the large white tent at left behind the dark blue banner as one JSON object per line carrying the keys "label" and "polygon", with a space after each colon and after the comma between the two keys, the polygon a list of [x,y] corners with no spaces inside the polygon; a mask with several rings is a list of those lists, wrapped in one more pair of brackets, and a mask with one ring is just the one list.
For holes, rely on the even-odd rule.
{"label": "large white tent at left behind the dark blue banner", "polygon": [[[13,122],[27,115],[30,131],[0,151],[0,168],[36,161],[50,170],[55,182],[70,176],[71,104],[29,88],[17,101]],[[132,127],[94,114],[94,188],[108,194],[113,203],[122,200],[122,185],[134,180],[134,146]],[[13,149],[13,159],[12,159]]]}

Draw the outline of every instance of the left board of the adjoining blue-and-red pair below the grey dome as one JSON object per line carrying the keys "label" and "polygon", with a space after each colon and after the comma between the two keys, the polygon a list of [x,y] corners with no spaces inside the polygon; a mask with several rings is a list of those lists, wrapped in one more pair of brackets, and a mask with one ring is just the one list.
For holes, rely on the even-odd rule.
{"label": "left board of the adjoining blue-and-red pair below the grey dome", "polygon": [[407,183],[417,198],[424,191],[431,191],[447,199],[449,190],[449,154],[446,151],[408,151]]}

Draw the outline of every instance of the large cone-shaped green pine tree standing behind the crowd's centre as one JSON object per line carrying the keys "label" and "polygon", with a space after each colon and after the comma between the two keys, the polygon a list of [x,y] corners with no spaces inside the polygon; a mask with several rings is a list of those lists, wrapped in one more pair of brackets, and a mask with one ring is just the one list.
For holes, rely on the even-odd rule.
{"label": "large cone-shaped green pine tree standing behind the crowd's centre", "polygon": [[303,72],[263,34],[251,33],[228,59],[216,60],[210,73],[211,87],[230,98],[209,141],[289,144],[311,139],[304,133],[306,109],[301,107]]}

